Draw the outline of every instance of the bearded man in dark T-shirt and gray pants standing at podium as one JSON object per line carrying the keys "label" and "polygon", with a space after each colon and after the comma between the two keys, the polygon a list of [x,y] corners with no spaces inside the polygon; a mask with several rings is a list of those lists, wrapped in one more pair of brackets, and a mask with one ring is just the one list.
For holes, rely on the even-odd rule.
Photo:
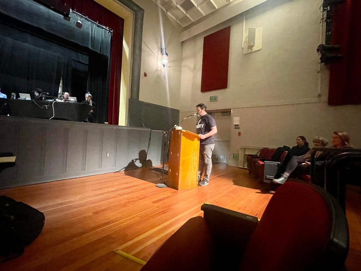
{"label": "bearded man in dark T-shirt and gray pants standing at podium", "polygon": [[[214,149],[213,135],[217,133],[217,126],[213,117],[207,114],[207,107],[205,104],[197,104],[196,109],[197,115],[200,117],[196,126],[197,134],[199,134],[200,137],[198,184],[200,186],[206,186],[208,185],[210,172],[212,171],[212,152]],[[203,164],[206,165],[206,171],[204,173],[203,180],[201,180],[203,174]]]}

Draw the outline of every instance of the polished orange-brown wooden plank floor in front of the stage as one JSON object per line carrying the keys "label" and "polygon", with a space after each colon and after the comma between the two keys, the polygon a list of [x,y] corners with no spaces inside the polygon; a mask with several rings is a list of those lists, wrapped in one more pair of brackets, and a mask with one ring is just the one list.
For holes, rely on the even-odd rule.
{"label": "polished orange-brown wooden plank floor in front of the stage", "polygon": [[[147,261],[185,221],[203,215],[204,202],[261,218],[272,196],[248,171],[224,164],[213,165],[209,185],[195,190],[157,188],[158,174],[139,168],[1,190],[44,212],[45,226],[21,257],[0,270],[140,270],[113,250]],[[350,271],[361,264],[357,189],[348,189],[348,198],[358,202],[348,210]]]}

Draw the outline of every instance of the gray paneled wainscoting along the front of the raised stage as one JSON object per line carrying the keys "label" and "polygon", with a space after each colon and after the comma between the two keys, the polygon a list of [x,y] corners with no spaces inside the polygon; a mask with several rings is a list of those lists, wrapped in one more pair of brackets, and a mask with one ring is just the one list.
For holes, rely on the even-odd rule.
{"label": "gray paneled wainscoting along the front of the raised stage", "polygon": [[0,173],[0,189],[136,168],[150,133],[147,159],[159,165],[161,131],[0,116],[0,152],[17,156],[16,166]]}

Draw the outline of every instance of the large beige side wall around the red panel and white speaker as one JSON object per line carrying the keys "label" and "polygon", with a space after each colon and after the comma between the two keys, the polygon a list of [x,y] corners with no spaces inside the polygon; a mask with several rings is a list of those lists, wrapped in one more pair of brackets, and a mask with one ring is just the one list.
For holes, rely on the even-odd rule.
{"label": "large beige side wall around the red panel and white speaker", "polygon": [[[230,127],[232,152],[240,146],[294,146],[304,135],[331,137],[346,130],[352,143],[361,147],[361,106],[327,106],[328,71],[318,74],[321,0],[267,1],[183,44],[181,118],[194,112],[197,103],[208,109],[232,108],[240,128]],[[263,27],[262,49],[244,55],[245,28]],[[231,25],[228,87],[200,92],[203,37]],[[319,95],[320,94],[320,95]],[[209,102],[218,95],[217,102]],[[320,97],[319,97],[320,96]],[[193,126],[187,120],[184,128]],[[239,137],[238,132],[242,135]],[[237,164],[230,159],[230,164]]]}

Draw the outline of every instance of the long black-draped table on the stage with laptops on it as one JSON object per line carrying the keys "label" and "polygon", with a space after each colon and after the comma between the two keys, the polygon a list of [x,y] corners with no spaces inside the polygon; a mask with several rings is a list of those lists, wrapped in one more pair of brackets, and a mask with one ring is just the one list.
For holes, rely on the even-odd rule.
{"label": "long black-draped table on the stage with laptops on it", "polygon": [[[85,103],[0,99],[0,111],[8,106],[15,117],[83,121],[95,107]],[[45,107],[47,106],[47,107]],[[53,111],[54,108],[54,111]]]}

